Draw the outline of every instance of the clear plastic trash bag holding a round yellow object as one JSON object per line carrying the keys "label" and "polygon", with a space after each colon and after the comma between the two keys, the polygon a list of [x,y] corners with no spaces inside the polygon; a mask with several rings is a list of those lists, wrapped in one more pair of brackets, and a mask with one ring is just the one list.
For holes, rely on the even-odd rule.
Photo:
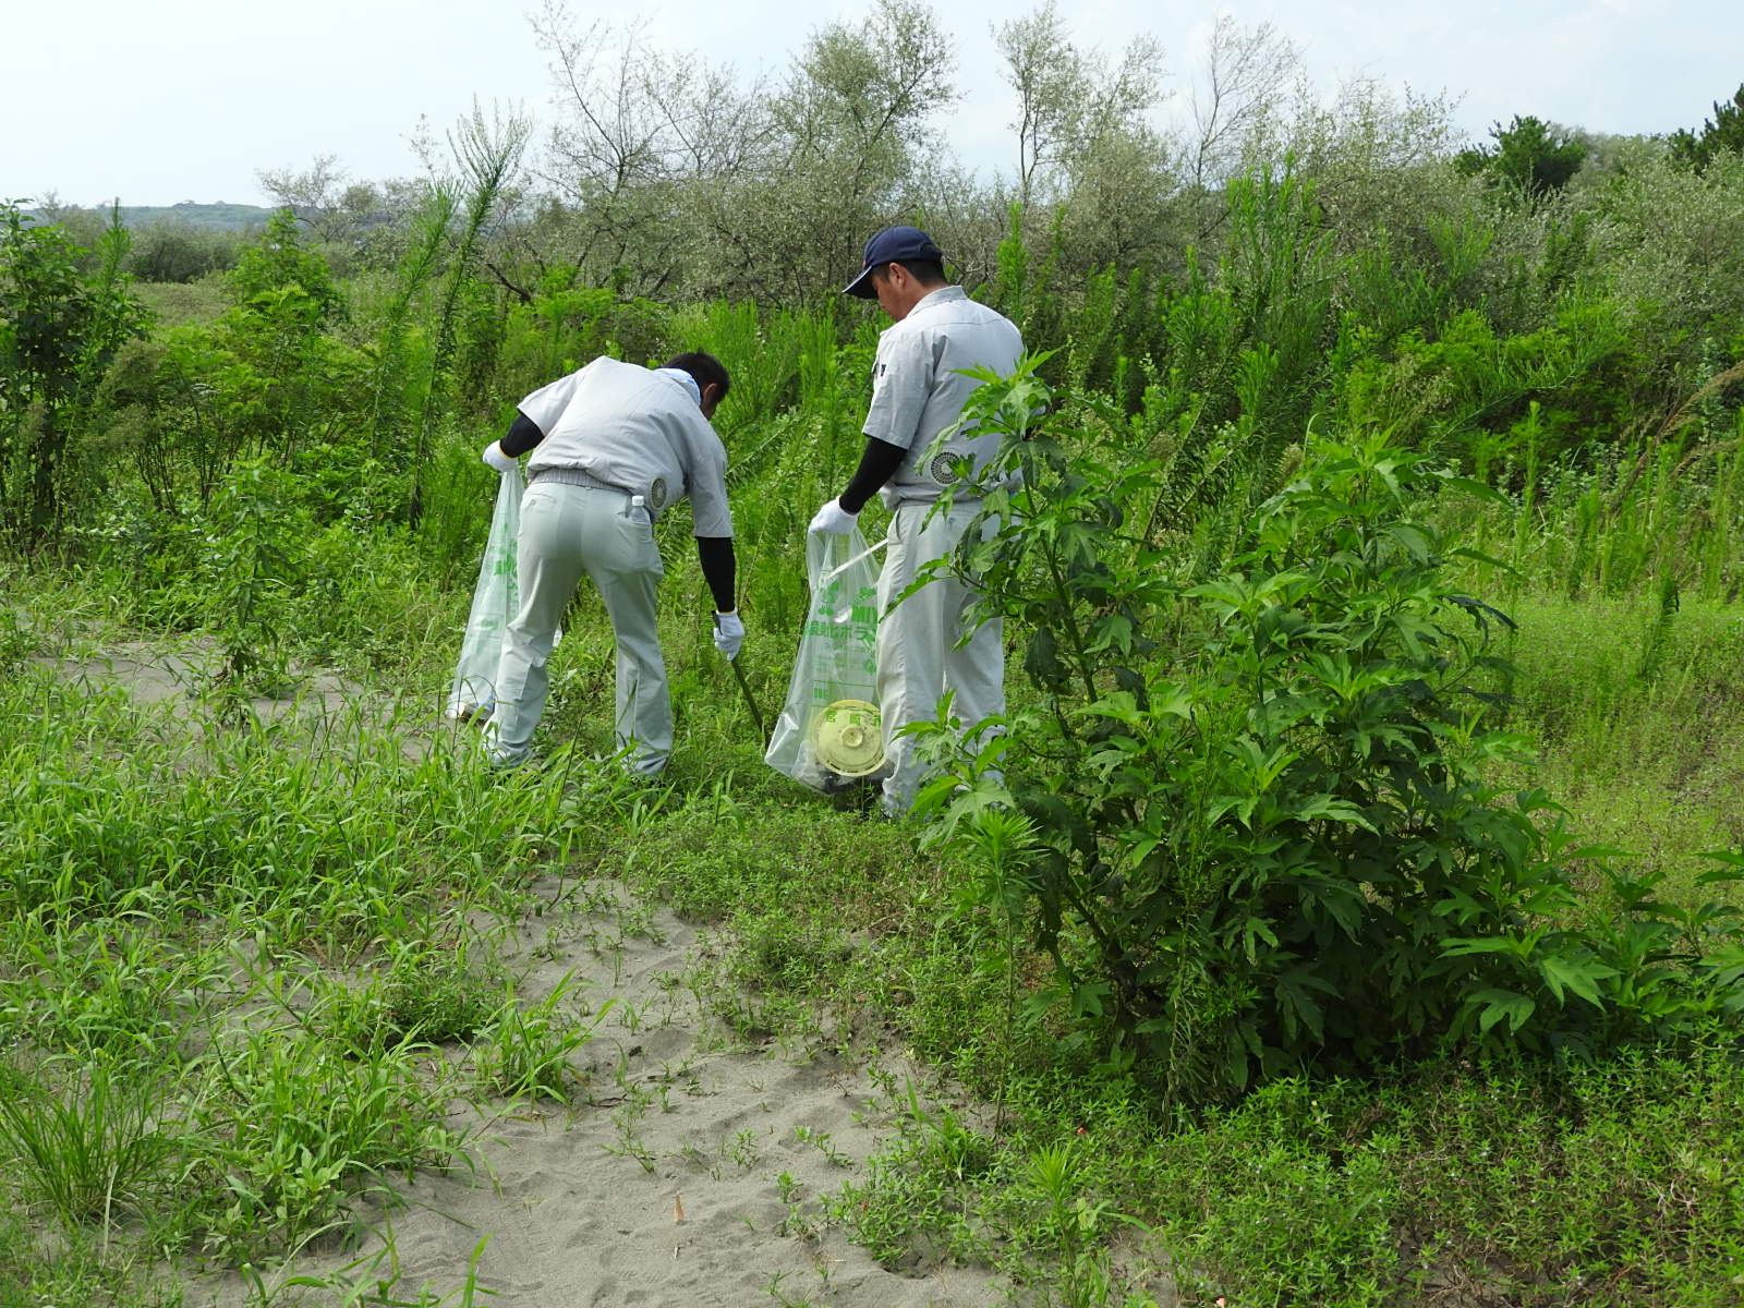
{"label": "clear plastic trash bag holding a round yellow object", "polygon": [[877,549],[867,548],[858,527],[848,535],[806,537],[811,602],[787,705],[764,762],[825,794],[877,776],[884,767],[877,713]]}

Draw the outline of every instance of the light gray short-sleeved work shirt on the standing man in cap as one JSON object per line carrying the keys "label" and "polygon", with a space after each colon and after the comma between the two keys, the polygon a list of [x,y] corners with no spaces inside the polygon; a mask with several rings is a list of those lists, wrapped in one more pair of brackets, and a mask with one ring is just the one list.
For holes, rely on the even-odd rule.
{"label": "light gray short-sleeved work shirt on the standing man in cap", "polygon": [[956,480],[952,464],[968,455],[975,471],[999,452],[999,433],[956,433],[931,453],[938,433],[963,417],[963,403],[980,385],[959,368],[991,368],[1010,375],[1024,354],[1017,328],[961,286],[942,286],[924,296],[900,323],[891,323],[877,342],[872,364],[872,406],[867,436],[907,450],[896,473],[884,483],[884,506],[930,502]]}

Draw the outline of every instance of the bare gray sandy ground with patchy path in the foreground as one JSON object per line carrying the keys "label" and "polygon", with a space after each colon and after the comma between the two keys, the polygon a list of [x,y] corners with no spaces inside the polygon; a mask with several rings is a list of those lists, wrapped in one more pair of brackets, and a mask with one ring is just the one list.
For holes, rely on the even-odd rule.
{"label": "bare gray sandy ground with patchy path in the foreground", "polygon": [[[174,703],[208,661],[201,647],[131,642],[58,668],[127,685],[143,703]],[[255,710],[338,715],[356,696],[312,678],[295,706],[255,701]],[[891,1132],[891,1092],[902,1100],[926,1085],[924,1071],[889,1050],[851,1066],[827,1041],[746,1048],[703,1012],[692,985],[715,952],[706,931],[616,882],[551,875],[535,891],[548,912],[513,926],[499,959],[520,978],[523,1003],[565,985],[562,1003],[593,1015],[570,1102],[459,1107],[453,1125],[473,1137],[471,1167],[396,1179],[398,1200],[359,1209],[351,1249],[303,1250],[262,1270],[272,1303],[352,1303],[347,1285],[378,1282],[391,1282],[394,1301],[513,1308],[1005,1299],[982,1270],[888,1271],[820,1219],[821,1196],[863,1177]],[[467,1299],[481,1242],[480,1298]],[[190,1308],[262,1303],[237,1273],[194,1277],[185,1292]]]}

